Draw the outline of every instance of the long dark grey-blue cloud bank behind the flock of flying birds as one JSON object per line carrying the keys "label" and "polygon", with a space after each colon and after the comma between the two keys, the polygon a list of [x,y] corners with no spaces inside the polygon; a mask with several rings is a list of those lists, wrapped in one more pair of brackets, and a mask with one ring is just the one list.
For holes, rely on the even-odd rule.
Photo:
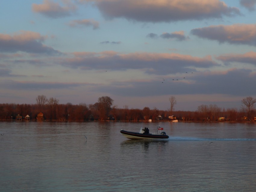
{"label": "long dark grey-blue cloud bank behind the flock of flying birds", "polygon": [[[183,77],[183,76],[182,76]],[[150,79],[140,81],[139,79],[129,81],[112,82],[111,85],[97,85],[93,91],[114,94],[121,97],[148,97],[161,95],[194,95],[205,94],[207,97],[213,94],[234,96],[255,95],[251,86],[256,80],[256,74],[251,75],[251,70],[230,69],[226,71],[195,72],[194,75],[186,77],[186,80],[173,81],[172,76],[161,79]],[[242,86],[237,86],[242,85]],[[236,88],[234,88],[236,87]]]}

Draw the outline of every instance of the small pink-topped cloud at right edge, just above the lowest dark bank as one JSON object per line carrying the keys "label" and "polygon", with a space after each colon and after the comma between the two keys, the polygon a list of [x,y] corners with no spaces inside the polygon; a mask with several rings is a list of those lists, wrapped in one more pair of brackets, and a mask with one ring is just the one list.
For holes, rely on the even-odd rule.
{"label": "small pink-topped cloud at right edge, just above the lowest dark bank", "polygon": [[245,54],[225,54],[216,57],[224,62],[250,63],[256,66],[256,52],[248,52]]}

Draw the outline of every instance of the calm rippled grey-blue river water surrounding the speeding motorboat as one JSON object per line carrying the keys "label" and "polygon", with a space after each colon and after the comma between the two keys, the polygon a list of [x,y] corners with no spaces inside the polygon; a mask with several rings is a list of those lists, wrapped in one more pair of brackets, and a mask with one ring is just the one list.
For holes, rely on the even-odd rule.
{"label": "calm rippled grey-blue river water surrounding the speeding motorboat", "polygon": [[256,124],[0,122],[0,191],[255,191]]}

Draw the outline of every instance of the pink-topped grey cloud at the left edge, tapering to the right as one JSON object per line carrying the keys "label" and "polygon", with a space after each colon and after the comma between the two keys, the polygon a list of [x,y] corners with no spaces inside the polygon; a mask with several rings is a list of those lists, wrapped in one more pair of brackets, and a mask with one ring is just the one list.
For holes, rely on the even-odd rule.
{"label": "pink-topped grey cloud at the left edge, tapering to the right", "polygon": [[59,54],[59,51],[42,44],[46,38],[47,36],[31,31],[21,31],[13,36],[0,34],[0,52]]}

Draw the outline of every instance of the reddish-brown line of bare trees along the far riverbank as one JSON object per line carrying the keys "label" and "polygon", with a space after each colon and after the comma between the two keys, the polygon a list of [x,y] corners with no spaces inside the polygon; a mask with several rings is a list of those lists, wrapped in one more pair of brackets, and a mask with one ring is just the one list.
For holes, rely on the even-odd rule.
{"label": "reddish-brown line of bare trees along the far riverbank", "polygon": [[[98,98],[95,104],[59,104],[56,98],[47,98],[38,95],[36,104],[0,104],[0,120],[14,120],[17,115],[23,118],[27,115],[30,120],[36,120],[38,113],[42,112],[44,120],[48,121],[161,121],[170,120],[169,116],[176,116],[179,121],[214,122],[222,117],[226,121],[253,120],[256,117],[256,99],[247,97],[241,103],[241,109],[221,108],[216,104],[200,105],[196,111],[175,111],[175,97],[170,97],[170,109],[129,109],[128,105],[118,108],[113,105],[113,99],[108,96]],[[247,117],[247,118],[243,118]]]}

